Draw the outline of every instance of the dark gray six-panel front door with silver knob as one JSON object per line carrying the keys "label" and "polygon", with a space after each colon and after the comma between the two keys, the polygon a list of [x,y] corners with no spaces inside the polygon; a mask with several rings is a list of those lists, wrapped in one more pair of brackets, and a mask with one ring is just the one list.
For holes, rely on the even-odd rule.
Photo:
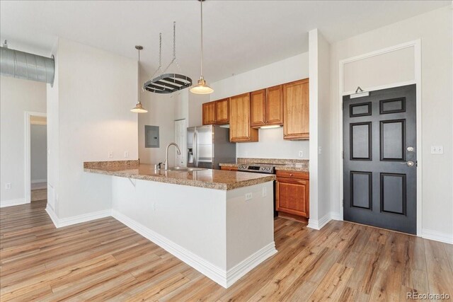
{"label": "dark gray six-panel front door with silver knob", "polygon": [[343,219],[415,234],[415,85],[343,97]]}

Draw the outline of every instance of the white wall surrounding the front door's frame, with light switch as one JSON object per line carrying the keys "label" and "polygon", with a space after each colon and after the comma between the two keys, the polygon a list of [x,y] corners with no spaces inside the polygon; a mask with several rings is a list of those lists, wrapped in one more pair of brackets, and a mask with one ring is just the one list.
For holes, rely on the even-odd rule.
{"label": "white wall surrounding the front door's frame, with light switch", "polygon": [[[453,242],[453,73],[452,9],[440,8],[331,45],[331,209],[340,213],[341,112],[338,66],[341,59],[421,40],[423,233],[435,233]],[[369,71],[372,73],[372,71]],[[433,155],[430,146],[444,146]]]}

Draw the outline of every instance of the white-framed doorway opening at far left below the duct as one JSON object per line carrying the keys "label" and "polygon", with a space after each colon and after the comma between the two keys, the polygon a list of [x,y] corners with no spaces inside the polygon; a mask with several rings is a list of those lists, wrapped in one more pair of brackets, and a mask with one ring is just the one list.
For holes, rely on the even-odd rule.
{"label": "white-framed doorway opening at far left below the duct", "polygon": [[47,201],[47,117],[25,112],[25,198]]}

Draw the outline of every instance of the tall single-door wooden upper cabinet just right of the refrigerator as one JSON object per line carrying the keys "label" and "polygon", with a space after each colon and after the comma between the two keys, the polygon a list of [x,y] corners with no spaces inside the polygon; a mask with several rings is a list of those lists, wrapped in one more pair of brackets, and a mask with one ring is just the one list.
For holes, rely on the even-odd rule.
{"label": "tall single-door wooden upper cabinet just right of the refrigerator", "polygon": [[250,93],[229,98],[229,140],[232,142],[258,141],[258,129],[250,122]]}

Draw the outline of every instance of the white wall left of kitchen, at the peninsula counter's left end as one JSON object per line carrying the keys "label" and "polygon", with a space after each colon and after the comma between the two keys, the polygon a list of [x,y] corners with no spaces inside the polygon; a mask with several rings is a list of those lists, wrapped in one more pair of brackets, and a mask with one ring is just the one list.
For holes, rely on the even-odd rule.
{"label": "white wall left of kitchen, at the peninsula counter's left end", "polygon": [[62,39],[55,54],[58,81],[48,102],[58,110],[47,112],[47,127],[50,157],[58,160],[50,161],[49,174],[57,183],[55,214],[64,219],[111,208],[110,178],[84,173],[84,161],[125,160],[125,151],[138,157],[137,114],[130,112],[137,62]]}

